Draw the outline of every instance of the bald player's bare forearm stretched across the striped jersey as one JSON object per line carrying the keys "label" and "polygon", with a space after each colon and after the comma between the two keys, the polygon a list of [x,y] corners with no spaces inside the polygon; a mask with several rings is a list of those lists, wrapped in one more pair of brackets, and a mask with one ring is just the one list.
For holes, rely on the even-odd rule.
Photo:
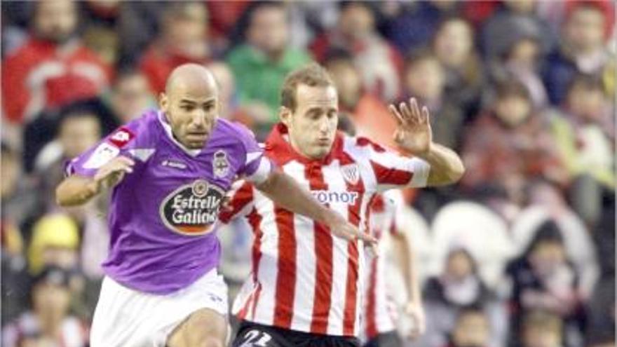
{"label": "bald player's bare forearm stretched across the striped jersey", "polygon": [[360,238],[374,244],[376,240],[347,222],[341,215],[321,205],[308,191],[279,170],[273,170],[262,184],[255,186],[275,203],[294,213],[305,215],[330,227],[332,233],[347,240]]}

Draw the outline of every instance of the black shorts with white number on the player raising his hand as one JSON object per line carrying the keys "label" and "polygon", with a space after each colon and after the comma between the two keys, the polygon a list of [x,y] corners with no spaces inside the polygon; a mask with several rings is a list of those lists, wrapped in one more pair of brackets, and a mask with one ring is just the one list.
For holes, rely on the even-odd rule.
{"label": "black shorts with white number on the player raising his hand", "polygon": [[243,321],[238,328],[233,347],[360,347],[353,336],[332,336],[297,332],[295,330]]}

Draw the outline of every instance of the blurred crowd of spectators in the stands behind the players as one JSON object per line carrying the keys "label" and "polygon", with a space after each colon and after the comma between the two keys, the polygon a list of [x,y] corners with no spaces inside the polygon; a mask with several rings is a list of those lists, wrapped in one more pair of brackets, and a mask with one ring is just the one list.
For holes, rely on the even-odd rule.
{"label": "blurred crowd of spectators in the stands behind the players", "polygon": [[[264,139],[285,74],[311,60],[358,133],[392,144],[387,104],[416,97],[466,165],[456,186],[405,193],[428,327],[408,346],[615,346],[613,2],[1,6],[2,346],[88,345],[108,197],[57,207],[67,158],[156,107],[185,62]],[[251,236],[219,236],[233,295]]]}

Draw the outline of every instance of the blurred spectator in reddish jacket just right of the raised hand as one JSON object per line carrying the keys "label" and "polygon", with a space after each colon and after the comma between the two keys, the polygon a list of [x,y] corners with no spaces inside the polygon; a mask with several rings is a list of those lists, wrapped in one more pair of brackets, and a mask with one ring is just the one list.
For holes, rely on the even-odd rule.
{"label": "blurred spectator in reddish jacket just right of the raised hand", "polygon": [[463,160],[475,168],[463,177],[463,184],[498,184],[519,205],[529,179],[560,181],[565,175],[544,119],[534,114],[527,89],[515,81],[496,86],[491,107],[466,131]]}

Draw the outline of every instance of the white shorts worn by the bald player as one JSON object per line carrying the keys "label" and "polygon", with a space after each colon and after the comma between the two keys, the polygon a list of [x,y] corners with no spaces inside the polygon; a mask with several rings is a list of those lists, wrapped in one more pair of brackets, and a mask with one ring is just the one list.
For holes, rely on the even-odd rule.
{"label": "white shorts worn by the bald player", "polygon": [[210,308],[227,317],[227,286],[212,269],[168,295],[148,294],[105,277],[90,331],[91,347],[164,347],[191,313]]}

